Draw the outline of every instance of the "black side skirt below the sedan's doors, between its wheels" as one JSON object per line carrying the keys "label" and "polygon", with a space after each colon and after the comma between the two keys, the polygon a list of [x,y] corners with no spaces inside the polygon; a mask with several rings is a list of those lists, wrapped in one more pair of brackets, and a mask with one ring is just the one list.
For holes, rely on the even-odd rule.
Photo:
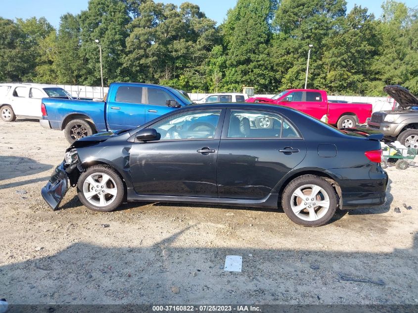
{"label": "black side skirt below the sedan's doors, between its wheels", "polygon": [[218,204],[247,206],[255,208],[278,208],[278,194],[270,193],[263,199],[232,199],[232,198],[211,198],[211,197],[187,197],[187,196],[163,196],[163,195],[140,195],[135,192],[134,188],[128,188],[127,199],[129,202],[186,202],[186,203],[202,203],[202,204]]}

